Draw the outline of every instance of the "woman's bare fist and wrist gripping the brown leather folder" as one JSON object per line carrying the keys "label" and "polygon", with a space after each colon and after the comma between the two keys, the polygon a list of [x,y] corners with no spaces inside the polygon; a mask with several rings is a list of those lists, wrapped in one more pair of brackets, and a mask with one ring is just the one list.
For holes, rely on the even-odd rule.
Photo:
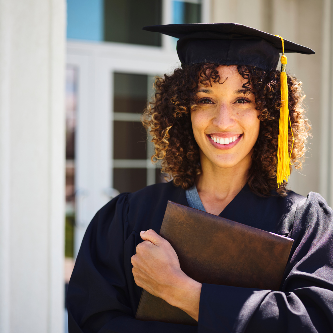
{"label": "woman's bare fist and wrist gripping the brown leather folder", "polygon": [[131,259],[136,284],[198,320],[201,283],[180,269],[177,254],[166,239],[154,230],[141,231],[141,238],[144,242]]}

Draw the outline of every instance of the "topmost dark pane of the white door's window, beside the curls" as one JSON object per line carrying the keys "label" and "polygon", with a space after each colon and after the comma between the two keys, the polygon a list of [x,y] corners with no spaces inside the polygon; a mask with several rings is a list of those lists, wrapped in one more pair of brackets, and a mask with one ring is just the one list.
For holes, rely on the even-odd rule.
{"label": "topmost dark pane of the white door's window, beside the curls", "polygon": [[114,112],[142,113],[147,101],[147,75],[114,74]]}

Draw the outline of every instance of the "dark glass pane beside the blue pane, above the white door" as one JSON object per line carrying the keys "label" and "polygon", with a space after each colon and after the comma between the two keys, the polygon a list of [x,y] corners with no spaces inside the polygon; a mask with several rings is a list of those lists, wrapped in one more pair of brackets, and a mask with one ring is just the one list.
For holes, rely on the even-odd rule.
{"label": "dark glass pane beside the blue pane, above the white door", "polygon": [[142,30],[161,18],[162,0],[104,0],[104,40],[161,46],[161,34]]}

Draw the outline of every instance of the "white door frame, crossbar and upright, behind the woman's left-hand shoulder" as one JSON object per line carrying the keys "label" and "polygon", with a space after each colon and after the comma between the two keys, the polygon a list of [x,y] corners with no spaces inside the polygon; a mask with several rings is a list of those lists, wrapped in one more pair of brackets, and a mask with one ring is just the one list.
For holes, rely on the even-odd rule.
{"label": "white door frame, crossbar and upright, behind the woman's left-hand shoulder", "polygon": [[121,43],[67,43],[67,64],[78,69],[75,138],[75,257],[85,230],[110,200],[113,179],[113,73],[170,73],[179,66],[174,51]]}

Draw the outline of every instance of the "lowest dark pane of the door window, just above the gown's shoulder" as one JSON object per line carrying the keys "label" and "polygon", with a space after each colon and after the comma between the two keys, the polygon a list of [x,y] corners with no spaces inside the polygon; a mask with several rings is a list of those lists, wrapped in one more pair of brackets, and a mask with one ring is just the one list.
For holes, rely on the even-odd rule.
{"label": "lowest dark pane of the door window, just above the gown's shoulder", "polygon": [[147,184],[147,169],[114,168],[113,187],[120,193],[135,192]]}

